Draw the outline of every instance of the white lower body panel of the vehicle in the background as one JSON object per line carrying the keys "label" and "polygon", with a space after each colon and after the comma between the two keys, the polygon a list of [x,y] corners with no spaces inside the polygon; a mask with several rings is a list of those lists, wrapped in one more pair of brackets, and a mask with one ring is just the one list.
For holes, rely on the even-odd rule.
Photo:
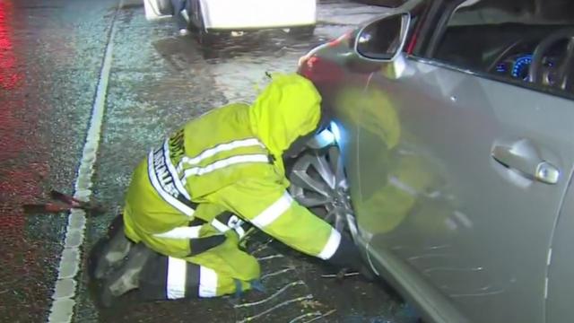
{"label": "white lower body panel of the vehicle in the background", "polygon": [[205,30],[288,28],[317,22],[316,0],[192,0],[190,11],[191,22]]}

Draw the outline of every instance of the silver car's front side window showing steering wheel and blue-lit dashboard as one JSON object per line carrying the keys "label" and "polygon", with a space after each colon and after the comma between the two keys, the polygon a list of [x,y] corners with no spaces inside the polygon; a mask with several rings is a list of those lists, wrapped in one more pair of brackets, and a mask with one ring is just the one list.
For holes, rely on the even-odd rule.
{"label": "silver car's front side window showing steering wheel and blue-lit dashboard", "polygon": [[[571,29],[574,37],[574,1],[468,0],[451,12],[432,58],[509,83],[574,92],[574,84],[562,88],[552,79],[568,57],[570,34],[564,30]],[[563,37],[556,37],[561,32]],[[552,38],[557,39],[544,48],[544,55],[534,57],[535,49]],[[533,58],[540,59],[535,60],[536,73],[530,74]],[[574,75],[571,79],[574,83]]]}

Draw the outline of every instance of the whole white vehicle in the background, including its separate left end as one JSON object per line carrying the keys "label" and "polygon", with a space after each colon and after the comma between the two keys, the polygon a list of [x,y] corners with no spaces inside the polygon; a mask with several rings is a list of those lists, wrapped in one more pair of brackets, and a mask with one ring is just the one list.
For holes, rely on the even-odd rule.
{"label": "whole white vehicle in the background, including its separate left end", "polygon": [[[143,0],[143,4],[148,21],[174,14],[170,0]],[[317,0],[187,0],[183,15],[200,40],[262,29],[289,29],[310,37],[317,23]]]}

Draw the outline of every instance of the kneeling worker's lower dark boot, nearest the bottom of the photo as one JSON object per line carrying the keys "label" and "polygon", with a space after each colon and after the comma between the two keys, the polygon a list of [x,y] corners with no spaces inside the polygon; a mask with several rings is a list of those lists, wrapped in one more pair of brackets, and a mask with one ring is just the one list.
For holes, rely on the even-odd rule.
{"label": "kneeling worker's lower dark boot, nearest the bottom of the photo", "polygon": [[139,287],[143,266],[154,254],[143,243],[136,244],[127,254],[126,262],[113,271],[101,286],[100,301],[104,307],[110,307],[121,295]]}

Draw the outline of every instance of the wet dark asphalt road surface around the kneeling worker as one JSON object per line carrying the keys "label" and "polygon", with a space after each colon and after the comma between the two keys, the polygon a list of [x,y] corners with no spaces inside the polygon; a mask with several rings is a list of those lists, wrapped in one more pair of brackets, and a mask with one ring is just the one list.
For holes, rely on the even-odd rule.
{"label": "wet dark asphalt road surface around the kneeling worker", "polygon": [[[294,71],[310,48],[384,10],[325,1],[309,41],[260,31],[200,48],[193,36],[176,37],[170,21],[146,22],[139,1],[0,0],[0,321],[48,319],[68,214],[24,215],[22,204],[46,201],[50,188],[74,193],[110,41],[100,145],[85,190],[108,212],[88,216],[84,251],[120,212],[131,170],[151,146],[188,118],[252,100],[265,71]],[[382,283],[323,277],[329,268],[264,236],[250,249],[262,263],[265,292],[155,303],[126,296],[112,310],[94,305],[83,257],[72,320],[413,321]]]}

